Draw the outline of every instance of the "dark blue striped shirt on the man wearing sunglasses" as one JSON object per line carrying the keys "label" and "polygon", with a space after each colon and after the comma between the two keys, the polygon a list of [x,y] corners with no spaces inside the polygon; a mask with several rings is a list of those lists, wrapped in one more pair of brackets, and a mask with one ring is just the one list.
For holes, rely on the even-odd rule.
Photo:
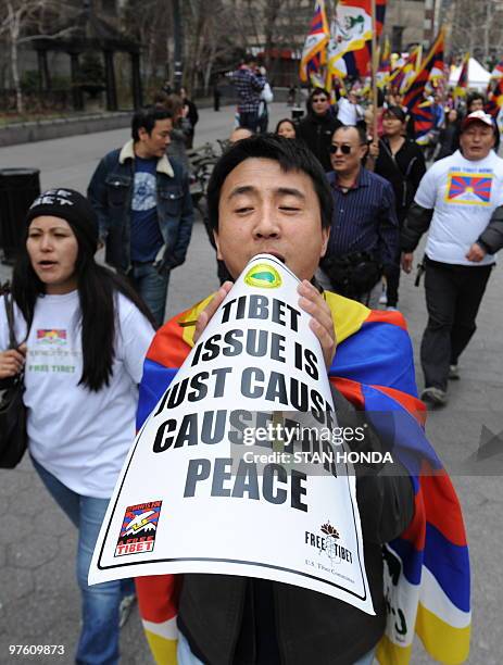
{"label": "dark blue striped shirt on the man wearing sunglasses", "polygon": [[385,265],[395,263],[399,223],[391,185],[363,166],[347,192],[338,186],[334,171],[327,179],[334,199],[327,256],[372,252]]}

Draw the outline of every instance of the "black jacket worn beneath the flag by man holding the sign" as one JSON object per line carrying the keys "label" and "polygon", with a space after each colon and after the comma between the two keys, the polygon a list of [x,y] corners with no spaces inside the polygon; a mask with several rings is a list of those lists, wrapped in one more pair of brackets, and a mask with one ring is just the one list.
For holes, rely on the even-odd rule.
{"label": "black jacket worn beneath the flag by man holding the sign", "polygon": [[[335,392],[338,423],[354,425],[354,410]],[[360,421],[361,423],[361,421]],[[372,429],[372,428],[370,428]],[[388,449],[375,434],[365,449]],[[354,448],[353,448],[354,450]],[[376,616],[292,585],[230,575],[185,575],[178,627],[192,653],[210,665],[350,665],[381,638],[386,624],[381,545],[414,514],[408,475],[381,468],[356,478],[365,567]]]}

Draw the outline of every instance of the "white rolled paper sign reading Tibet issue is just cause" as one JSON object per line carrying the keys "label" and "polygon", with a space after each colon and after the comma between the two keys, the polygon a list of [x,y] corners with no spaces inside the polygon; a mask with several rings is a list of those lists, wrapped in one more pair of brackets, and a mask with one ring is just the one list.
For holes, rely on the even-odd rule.
{"label": "white rolled paper sign reading Tibet issue is just cause", "polygon": [[237,279],[136,438],[90,584],[242,575],[374,614],[355,478],[343,443],[318,437],[337,414],[298,285],[267,254]]}

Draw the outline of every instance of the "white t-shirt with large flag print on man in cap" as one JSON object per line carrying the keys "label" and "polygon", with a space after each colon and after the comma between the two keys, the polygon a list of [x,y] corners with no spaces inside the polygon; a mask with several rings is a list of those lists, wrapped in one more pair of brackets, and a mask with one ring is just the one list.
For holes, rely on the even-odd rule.
{"label": "white t-shirt with large flag print on man in cap", "polygon": [[466,259],[494,210],[503,204],[503,160],[494,151],[470,161],[457,150],[436,162],[423,177],[415,202],[435,209],[426,243],[429,259],[470,266],[494,263],[492,254],[479,263]]}

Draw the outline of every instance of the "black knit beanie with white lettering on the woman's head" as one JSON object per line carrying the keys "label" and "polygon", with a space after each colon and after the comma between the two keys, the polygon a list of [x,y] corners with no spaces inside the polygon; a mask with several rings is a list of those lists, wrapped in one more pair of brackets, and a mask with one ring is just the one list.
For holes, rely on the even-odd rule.
{"label": "black knit beanie with white lettering on the woman's head", "polygon": [[98,218],[91,204],[75,189],[49,189],[37,197],[26,215],[26,225],[42,215],[65,219],[92,254],[98,249]]}

